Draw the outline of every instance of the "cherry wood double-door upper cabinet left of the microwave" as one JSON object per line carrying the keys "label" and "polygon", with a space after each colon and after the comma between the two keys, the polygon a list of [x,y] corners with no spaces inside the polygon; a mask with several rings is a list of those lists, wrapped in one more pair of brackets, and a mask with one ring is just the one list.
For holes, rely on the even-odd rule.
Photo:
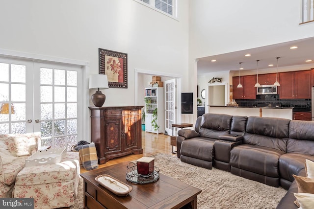
{"label": "cherry wood double-door upper cabinet left of the microwave", "polygon": [[256,75],[241,76],[241,84],[243,88],[236,88],[239,84],[239,76],[232,78],[233,83],[233,99],[256,99]]}

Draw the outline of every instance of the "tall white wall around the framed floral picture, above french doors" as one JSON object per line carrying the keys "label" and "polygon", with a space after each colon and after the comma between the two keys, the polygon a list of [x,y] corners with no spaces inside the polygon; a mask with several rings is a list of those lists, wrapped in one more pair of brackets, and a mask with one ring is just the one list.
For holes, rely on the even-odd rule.
{"label": "tall white wall around the framed floral picture, above french doors", "polygon": [[188,82],[188,0],[178,2],[178,20],[134,0],[1,1],[0,19],[0,49],[86,61],[91,74],[98,48],[127,53],[128,89],[105,90],[104,106],[135,104],[135,68]]}

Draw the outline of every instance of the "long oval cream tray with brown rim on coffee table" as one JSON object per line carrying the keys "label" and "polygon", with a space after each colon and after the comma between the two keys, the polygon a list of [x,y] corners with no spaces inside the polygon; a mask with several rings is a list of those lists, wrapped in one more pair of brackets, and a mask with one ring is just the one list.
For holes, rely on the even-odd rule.
{"label": "long oval cream tray with brown rim on coffee table", "polygon": [[132,190],[130,185],[127,185],[110,175],[99,175],[95,180],[118,196],[127,196]]}

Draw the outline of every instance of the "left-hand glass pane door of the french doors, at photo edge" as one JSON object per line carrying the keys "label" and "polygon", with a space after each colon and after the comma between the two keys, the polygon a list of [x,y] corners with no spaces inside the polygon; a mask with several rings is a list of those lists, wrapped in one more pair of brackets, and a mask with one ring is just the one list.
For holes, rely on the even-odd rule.
{"label": "left-hand glass pane door of the french doors, at photo edge", "polygon": [[33,132],[32,70],[29,61],[0,59],[0,134]]}

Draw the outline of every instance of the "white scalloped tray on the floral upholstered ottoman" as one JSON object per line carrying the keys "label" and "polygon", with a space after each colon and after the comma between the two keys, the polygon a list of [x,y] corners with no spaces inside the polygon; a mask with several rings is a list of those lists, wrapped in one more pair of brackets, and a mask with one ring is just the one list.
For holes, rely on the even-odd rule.
{"label": "white scalloped tray on the floral upholstered ottoman", "polygon": [[25,166],[60,163],[65,154],[65,148],[38,150],[25,160]]}

